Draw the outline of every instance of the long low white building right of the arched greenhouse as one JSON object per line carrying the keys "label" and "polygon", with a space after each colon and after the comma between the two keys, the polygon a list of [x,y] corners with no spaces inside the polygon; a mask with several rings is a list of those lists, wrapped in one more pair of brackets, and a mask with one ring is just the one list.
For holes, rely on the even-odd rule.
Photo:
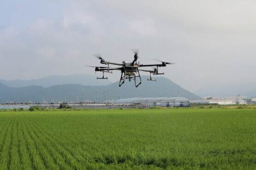
{"label": "long low white building right of the arched greenhouse", "polygon": [[190,100],[190,103],[197,104],[246,104],[244,99],[205,99],[205,100]]}

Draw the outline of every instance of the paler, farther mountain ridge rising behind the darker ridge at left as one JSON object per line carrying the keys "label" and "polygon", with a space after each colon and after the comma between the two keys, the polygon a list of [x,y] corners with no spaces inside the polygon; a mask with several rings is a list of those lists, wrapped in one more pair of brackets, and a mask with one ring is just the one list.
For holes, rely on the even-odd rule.
{"label": "paler, farther mountain ridge rising behind the darker ridge at left", "polygon": [[42,79],[30,80],[4,80],[0,79],[0,83],[9,87],[27,87],[30,85],[40,85],[42,87],[50,87],[53,85],[79,84],[79,85],[109,85],[112,82],[108,79],[105,81],[97,81],[95,75],[90,74],[71,74],[66,76],[52,75]]}

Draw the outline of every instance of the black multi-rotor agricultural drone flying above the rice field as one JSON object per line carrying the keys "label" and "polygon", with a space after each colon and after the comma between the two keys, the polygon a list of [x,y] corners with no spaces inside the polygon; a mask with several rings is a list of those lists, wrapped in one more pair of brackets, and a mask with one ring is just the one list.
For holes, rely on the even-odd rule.
{"label": "black multi-rotor agricultural drone flying above the rice field", "polygon": [[[96,71],[102,72],[102,74],[103,74],[102,77],[97,78],[97,79],[107,79],[107,77],[104,77],[104,73],[111,73],[112,74],[113,70],[120,70],[121,71],[121,78],[120,78],[120,81],[119,81],[119,87],[125,83],[125,79],[129,79],[129,81],[134,80],[135,86],[138,87],[141,84],[140,71],[149,72],[149,79],[147,79],[147,80],[156,81],[156,79],[152,79],[151,74],[153,74],[153,75],[164,74],[164,73],[159,73],[158,68],[159,67],[166,67],[167,64],[174,64],[172,62],[162,62],[158,59],[156,59],[156,60],[159,61],[159,62],[162,62],[161,64],[147,64],[147,65],[140,64],[140,62],[137,62],[137,59],[138,59],[137,51],[134,51],[134,60],[132,62],[123,61],[121,64],[114,63],[114,62],[107,62],[99,55],[95,56],[95,57],[97,57],[101,60],[101,64],[107,65],[107,67],[88,66],[88,67],[95,68],[95,73],[96,73]],[[109,67],[110,64],[116,65],[116,66],[119,66],[119,67],[112,68],[112,67]],[[156,67],[156,68],[153,68],[153,70],[140,69],[142,67]],[[139,81],[140,81],[139,83],[136,83],[136,77],[139,78]]]}

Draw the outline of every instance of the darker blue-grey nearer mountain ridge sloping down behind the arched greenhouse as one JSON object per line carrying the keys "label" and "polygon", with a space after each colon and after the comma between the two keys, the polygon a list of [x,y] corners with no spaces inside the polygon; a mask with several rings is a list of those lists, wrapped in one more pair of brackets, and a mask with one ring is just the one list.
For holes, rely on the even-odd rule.
{"label": "darker blue-grey nearer mountain ridge sloping down behind the arched greenhouse", "polygon": [[91,86],[91,85],[54,85],[51,87],[43,88],[41,86],[28,86],[21,88],[8,87],[0,83],[0,102],[51,102],[54,100],[69,102],[78,101],[81,102],[88,100],[89,96],[91,101],[96,101],[96,91],[98,91],[98,99],[100,102],[104,101],[103,91],[107,91],[107,99],[119,99],[131,98],[131,97],[186,97],[190,100],[201,99],[173,83],[171,80],[164,77],[157,77],[157,81],[147,81],[147,76],[142,76],[143,83],[137,88],[134,86],[134,81],[129,82],[125,80],[125,84],[119,87],[119,82],[115,82],[111,85]]}

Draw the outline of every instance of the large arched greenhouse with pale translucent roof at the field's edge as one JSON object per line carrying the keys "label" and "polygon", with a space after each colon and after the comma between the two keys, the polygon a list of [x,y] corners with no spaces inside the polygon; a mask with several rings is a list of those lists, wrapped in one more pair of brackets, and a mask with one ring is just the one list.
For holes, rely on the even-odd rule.
{"label": "large arched greenhouse with pale translucent roof at the field's edge", "polygon": [[185,97],[137,97],[137,98],[127,98],[120,99],[114,103],[139,103],[149,106],[165,106],[165,107],[181,107],[181,106],[190,106],[190,102]]}

